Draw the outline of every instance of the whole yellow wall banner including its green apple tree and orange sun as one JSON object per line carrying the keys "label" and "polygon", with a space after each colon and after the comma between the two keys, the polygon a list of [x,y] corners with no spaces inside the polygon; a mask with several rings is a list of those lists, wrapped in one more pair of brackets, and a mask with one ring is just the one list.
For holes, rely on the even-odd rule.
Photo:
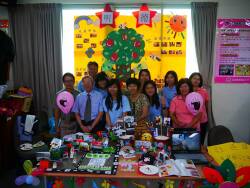
{"label": "whole yellow wall banner including its green apple tree and orange sun", "polygon": [[[76,82],[81,80],[89,61],[99,64],[111,77],[117,73],[130,71],[138,75],[141,69],[148,68],[158,87],[164,83],[168,70],[175,70],[178,76],[185,77],[186,71],[186,16],[164,15],[157,13],[152,18],[152,27],[136,27],[136,17],[120,15],[115,20],[116,28],[100,28],[97,16],[77,16],[74,21],[74,70]],[[123,29],[128,30],[123,33]],[[111,34],[112,31],[113,32]],[[133,44],[123,43],[125,40]],[[124,47],[124,55],[115,50],[117,45]],[[108,52],[108,49],[113,51]],[[121,48],[118,48],[121,49]],[[130,51],[129,51],[130,50]],[[130,57],[126,57],[131,52]],[[120,57],[121,56],[121,57]],[[107,57],[110,57],[107,59]],[[124,58],[126,68],[121,71],[120,59]],[[117,66],[117,62],[119,65]]]}

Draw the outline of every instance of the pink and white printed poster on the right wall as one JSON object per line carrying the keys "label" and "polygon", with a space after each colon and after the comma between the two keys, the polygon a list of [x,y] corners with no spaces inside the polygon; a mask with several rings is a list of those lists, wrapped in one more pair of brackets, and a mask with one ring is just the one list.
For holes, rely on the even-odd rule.
{"label": "pink and white printed poster on the right wall", "polygon": [[215,83],[250,84],[250,19],[218,19]]}

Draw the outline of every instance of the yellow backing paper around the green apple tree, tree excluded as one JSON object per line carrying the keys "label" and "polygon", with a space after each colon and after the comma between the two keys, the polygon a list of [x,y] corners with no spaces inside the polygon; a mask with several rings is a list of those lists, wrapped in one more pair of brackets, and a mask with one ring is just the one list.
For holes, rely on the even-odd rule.
{"label": "yellow backing paper around the green apple tree, tree excluded", "polygon": [[[159,14],[158,14],[159,17]],[[88,19],[81,20],[74,30],[74,70],[76,83],[79,82],[86,71],[89,61],[96,61],[99,64],[99,71],[105,61],[102,55],[102,41],[107,34],[120,27],[134,28],[137,33],[143,35],[145,41],[145,55],[140,63],[143,68],[148,68],[153,80],[163,84],[163,79],[168,70],[175,70],[178,77],[185,77],[186,70],[186,29],[170,27],[170,20],[173,15],[162,16],[163,21],[156,19],[152,28],[140,26],[136,28],[136,18],[134,16],[119,16],[116,18],[117,28],[106,26],[100,28],[97,16],[88,16]],[[75,17],[75,20],[78,17]],[[183,17],[186,19],[186,17]],[[97,23],[97,24],[96,24]],[[163,24],[163,26],[161,25]],[[179,26],[179,25],[178,25]],[[161,32],[162,31],[162,32]],[[89,51],[88,51],[89,49]],[[86,55],[86,51],[87,54]],[[136,75],[139,70],[132,64]],[[112,73],[108,72],[109,75]]]}

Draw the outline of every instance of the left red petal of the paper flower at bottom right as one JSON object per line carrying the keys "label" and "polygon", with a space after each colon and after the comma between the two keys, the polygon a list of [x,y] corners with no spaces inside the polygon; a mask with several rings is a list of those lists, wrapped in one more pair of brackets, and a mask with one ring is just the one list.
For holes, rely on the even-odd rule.
{"label": "left red petal of the paper flower at bottom right", "polygon": [[223,183],[224,179],[217,170],[204,167],[203,174],[209,183]]}

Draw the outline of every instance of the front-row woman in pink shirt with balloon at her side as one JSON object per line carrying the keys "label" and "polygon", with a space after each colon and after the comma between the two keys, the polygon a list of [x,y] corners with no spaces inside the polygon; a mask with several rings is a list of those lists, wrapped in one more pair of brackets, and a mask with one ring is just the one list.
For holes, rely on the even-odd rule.
{"label": "front-row woman in pink shirt with balloon at her side", "polygon": [[185,103],[186,96],[193,91],[190,80],[187,78],[180,79],[176,90],[177,96],[171,101],[169,109],[174,128],[196,128],[200,130],[202,112],[193,115],[189,112]]}

